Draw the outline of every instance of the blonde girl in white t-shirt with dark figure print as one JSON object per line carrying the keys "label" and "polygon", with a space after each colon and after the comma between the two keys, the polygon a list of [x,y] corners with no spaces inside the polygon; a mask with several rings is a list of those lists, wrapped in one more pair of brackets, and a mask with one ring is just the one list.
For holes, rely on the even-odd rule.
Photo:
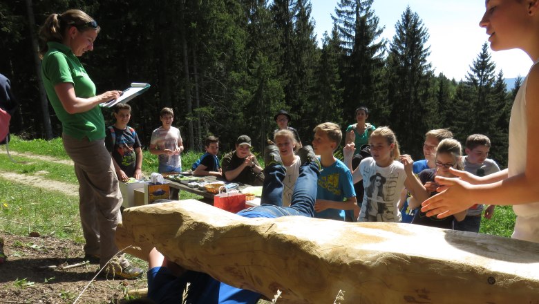
{"label": "blonde girl in white t-shirt with dark figure print", "polygon": [[[404,164],[397,161],[401,157],[395,133],[386,126],[372,131],[369,137],[372,158],[365,158],[352,171],[354,184],[363,180],[365,193],[359,212],[359,222],[400,222],[401,213],[397,208],[400,193],[414,185],[406,179]],[[351,168],[354,144],[343,149],[344,160]]]}

